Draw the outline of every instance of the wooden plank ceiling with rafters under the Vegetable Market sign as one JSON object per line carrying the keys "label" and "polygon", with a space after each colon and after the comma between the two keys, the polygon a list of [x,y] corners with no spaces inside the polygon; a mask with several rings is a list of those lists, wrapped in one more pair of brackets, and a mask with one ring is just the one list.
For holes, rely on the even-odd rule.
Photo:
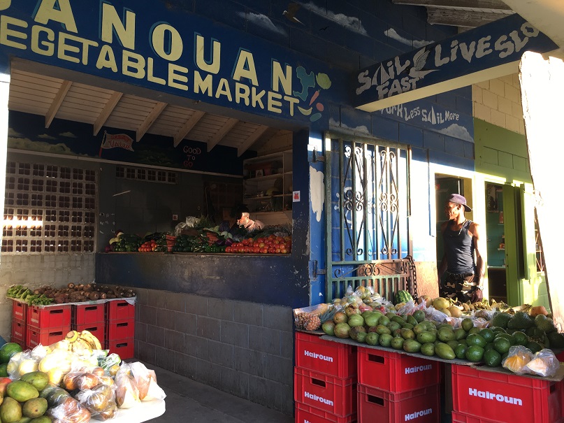
{"label": "wooden plank ceiling with rafters under the Vegetable Market sign", "polygon": [[134,131],[136,141],[155,134],[173,138],[174,145],[201,141],[208,151],[226,145],[238,155],[289,132],[17,68],[11,73],[8,108],[44,116],[46,128],[54,119],[65,119],[91,124],[94,135],[106,126]]}

